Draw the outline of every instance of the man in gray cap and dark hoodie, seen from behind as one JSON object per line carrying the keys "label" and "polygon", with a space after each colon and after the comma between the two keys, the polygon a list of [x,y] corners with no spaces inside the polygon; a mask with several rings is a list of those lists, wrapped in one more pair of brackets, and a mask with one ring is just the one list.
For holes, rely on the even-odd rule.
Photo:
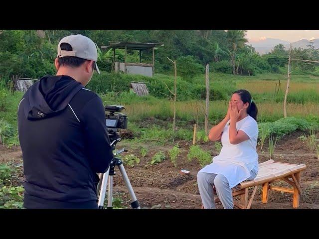
{"label": "man in gray cap and dark hoodie, seen from behind", "polygon": [[113,158],[102,100],[84,87],[98,52],[83,35],[58,44],[55,76],[33,84],[18,106],[24,208],[97,209],[97,173]]}

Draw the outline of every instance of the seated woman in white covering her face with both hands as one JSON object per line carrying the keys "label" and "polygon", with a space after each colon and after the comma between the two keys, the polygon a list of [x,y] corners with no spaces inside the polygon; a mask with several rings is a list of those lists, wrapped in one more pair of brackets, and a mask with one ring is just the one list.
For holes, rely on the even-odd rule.
{"label": "seated woman in white covering her face with both hands", "polygon": [[238,90],[231,97],[226,117],[211,128],[209,139],[221,139],[223,147],[213,162],[197,174],[204,209],[215,209],[213,185],[224,209],[233,209],[231,189],[257,176],[257,113],[250,93]]}

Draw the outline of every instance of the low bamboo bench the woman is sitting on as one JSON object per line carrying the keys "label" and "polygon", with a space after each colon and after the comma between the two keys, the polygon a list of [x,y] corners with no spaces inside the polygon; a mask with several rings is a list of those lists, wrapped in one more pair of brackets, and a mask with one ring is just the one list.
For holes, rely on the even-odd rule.
{"label": "low bamboo bench the woman is sitting on", "polygon": [[[306,169],[306,164],[280,163],[274,160],[268,160],[259,164],[259,172],[254,180],[244,181],[233,188],[233,197],[239,196],[239,201],[234,200],[234,206],[240,209],[250,209],[254,200],[257,187],[262,186],[262,202],[268,202],[268,194],[270,190],[286,192],[293,194],[293,208],[299,207],[300,194],[303,193],[301,188],[301,172]],[[292,188],[284,188],[271,185],[275,181],[283,180],[290,184]],[[248,189],[254,187],[250,199],[248,200]],[[216,190],[213,186],[215,195]],[[219,198],[215,196],[215,202],[219,202]]]}

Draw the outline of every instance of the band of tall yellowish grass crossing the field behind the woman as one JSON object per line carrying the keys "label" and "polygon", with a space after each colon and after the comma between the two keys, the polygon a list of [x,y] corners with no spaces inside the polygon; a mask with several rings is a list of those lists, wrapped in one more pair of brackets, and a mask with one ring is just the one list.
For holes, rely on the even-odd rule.
{"label": "band of tall yellowish grass crossing the field behind the woman", "polygon": [[[129,120],[142,121],[151,117],[169,121],[173,116],[173,103],[164,99],[155,99],[150,97],[130,100],[111,101],[108,97],[103,96],[104,103],[107,104],[122,104],[126,107]],[[273,122],[284,117],[282,103],[256,103],[258,107],[258,122]],[[209,104],[209,122],[215,124],[226,115],[228,102],[227,101],[213,101]],[[179,121],[190,121],[197,119],[203,122],[205,119],[205,102],[204,101],[179,101],[176,102],[176,119]],[[287,114],[289,117],[305,118],[316,117],[319,112],[319,104],[308,102],[306,104],[289,103],[287,105]]]}

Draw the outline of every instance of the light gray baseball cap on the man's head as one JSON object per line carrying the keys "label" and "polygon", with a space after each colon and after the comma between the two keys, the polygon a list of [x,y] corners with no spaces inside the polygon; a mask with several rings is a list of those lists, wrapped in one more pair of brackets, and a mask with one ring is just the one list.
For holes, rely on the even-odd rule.
{"label": "light gray baseball cap on the man's head", "polygon": [[[61,50],[61,43],[68,43],[72,47],[72,51]],[[64,56],[76,56],[85,60],[95,61],[95,69],[100,74],[98,65],[97,45],[90,38],[81,34],[63,37],[58,44],[58,58]]]}

